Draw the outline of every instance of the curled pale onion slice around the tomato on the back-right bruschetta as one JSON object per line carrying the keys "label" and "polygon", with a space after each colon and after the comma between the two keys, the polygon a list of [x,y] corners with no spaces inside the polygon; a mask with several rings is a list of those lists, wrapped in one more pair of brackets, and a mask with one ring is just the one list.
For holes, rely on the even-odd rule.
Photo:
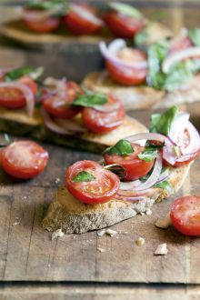
{"label": "curled pale onion slice around the tomato on the back-right bruschetta", "polygon": [[110,45],[107,47],[105,42],[102,41],[99,43],[99,49],[101,54],[110,61],[114,65],[118,65],[119,67],[125,69],[146,69],[147,68],[147,61],[142,62],[125,62],[124,60],[117,57],[117,54],[120,50],[125,48],[125,40],[118,38],[115,39]]}

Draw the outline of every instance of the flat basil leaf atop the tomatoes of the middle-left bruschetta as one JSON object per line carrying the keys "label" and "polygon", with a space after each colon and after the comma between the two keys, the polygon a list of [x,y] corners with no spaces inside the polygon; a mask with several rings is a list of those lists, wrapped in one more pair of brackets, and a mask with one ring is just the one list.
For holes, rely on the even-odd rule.
{"label": "flat basil leaf atop the tomatoes of the middle-left bruschetta", "polygon": [[77,95],[73,101],[73,105],[94,107],[95,105],[105,105],[107,103],[107,96],[105,94],[96,94],[93,92],[85,92],[84,95]]}

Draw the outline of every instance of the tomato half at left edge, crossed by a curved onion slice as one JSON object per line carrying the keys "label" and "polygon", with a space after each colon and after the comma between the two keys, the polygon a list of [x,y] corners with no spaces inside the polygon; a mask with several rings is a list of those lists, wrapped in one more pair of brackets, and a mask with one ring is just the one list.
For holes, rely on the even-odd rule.
{"label": "tomato half at left edge, crossed by a curved onion slice", "polygon": [[[37,85],[33,79],[22,77],[18,81],[30,87],[33,94],[36,95]],[[0,105],[9,109],[15,109],[24,107],[25,104],[25,96],[19,89],[14,87],[0,87]]]}

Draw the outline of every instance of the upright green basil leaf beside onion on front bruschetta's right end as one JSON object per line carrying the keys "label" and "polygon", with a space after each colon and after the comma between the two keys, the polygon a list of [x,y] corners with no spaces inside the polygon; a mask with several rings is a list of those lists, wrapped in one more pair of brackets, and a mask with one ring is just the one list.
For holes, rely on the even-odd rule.
{"label": "upright green basil leaf beside onion on front bruschetta's right end", "polygon": [[178,107],[174,105],[167,109],[162,115],[152,115],[150,132],[168,135],[171,125],[175,119],[175,115],[177,113]]}

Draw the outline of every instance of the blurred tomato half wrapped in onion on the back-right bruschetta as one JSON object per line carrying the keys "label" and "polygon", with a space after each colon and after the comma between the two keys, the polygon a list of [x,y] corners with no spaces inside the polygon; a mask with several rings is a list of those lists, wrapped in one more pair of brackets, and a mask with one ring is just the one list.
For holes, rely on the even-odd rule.
{"label": "blurred tomato half wrapped in onion on the back-right bruschetta", "polygon": [[[145,54],[142,51],[130,48],[124,48],[117,56],[125,62],[131,63],[144,62],[146,60]],[[110,75],[121,84],[140,85],[145,82],[147,69],[125,68],[121,65],[114,65],[110,61],[106,61],[105,65]]]}

